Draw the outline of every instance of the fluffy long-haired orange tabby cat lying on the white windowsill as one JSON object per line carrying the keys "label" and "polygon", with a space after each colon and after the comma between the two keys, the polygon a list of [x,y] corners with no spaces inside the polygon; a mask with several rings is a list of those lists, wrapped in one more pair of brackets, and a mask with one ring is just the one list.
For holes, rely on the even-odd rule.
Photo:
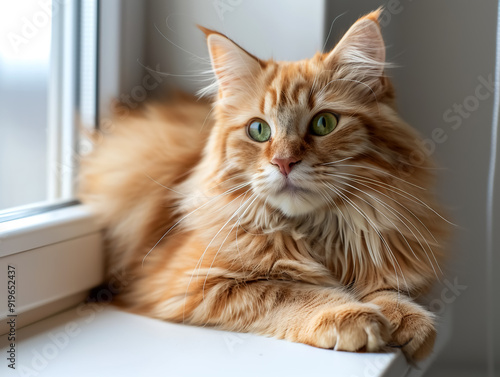
{"label": "fluffy long-haired orange tabby cat lying on the white windowsill", "polygon": [[[82,166],[137,313],[322,348],[429,355],[440,273],[429,161],[398,116],[380,11],[329,53],[260,60],[203,29],[208,104],[145,107]],[[210,113],[210,114],[209,114]],[[207,115],[209,114],[209,115]],[[412,174],[402,178],[402,171]],[[421,187],[423,186],[423,187]]]}

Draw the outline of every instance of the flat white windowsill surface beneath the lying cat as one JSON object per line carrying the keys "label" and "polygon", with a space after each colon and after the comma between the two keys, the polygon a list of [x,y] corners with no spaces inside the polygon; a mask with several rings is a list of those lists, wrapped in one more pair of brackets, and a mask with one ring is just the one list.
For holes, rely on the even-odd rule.
{"label": "flat white windowsill surface beneath the lying cat", "polygon": [[[401,377],[415,371],[400,352],[335,352],[83,304],[18,330],[17,336],[17,369],[37,376]],[[2,357],[0,370],[7,363]]]}

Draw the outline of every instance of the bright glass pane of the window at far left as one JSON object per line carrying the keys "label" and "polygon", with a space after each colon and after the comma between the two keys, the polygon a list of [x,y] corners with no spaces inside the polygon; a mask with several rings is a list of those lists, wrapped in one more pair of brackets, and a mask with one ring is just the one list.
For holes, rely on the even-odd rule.
{"label": "bright glass pane of the window at far left", "polygon": [[1,1],[0,210],[48,198],[51,1]]}

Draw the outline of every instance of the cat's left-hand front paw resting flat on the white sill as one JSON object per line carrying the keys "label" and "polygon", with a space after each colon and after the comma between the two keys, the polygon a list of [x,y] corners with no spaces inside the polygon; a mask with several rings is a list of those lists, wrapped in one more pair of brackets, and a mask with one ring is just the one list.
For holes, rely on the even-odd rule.
{"label": "cat's left-hand front paw resting flat on the white sill", "polygon": [[349,303],[315,313],[305,335],[316,347],[375,352],[390,339],[390,324],[376,305]]}

